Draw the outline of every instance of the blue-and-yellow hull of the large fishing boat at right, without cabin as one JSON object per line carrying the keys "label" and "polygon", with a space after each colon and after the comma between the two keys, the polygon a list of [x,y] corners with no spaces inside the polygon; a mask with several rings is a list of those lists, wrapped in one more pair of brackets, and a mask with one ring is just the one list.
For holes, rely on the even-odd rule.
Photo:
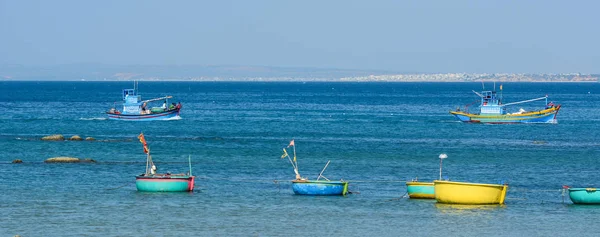
{"label": "blue-and-yellow hull of the large fishing boat at right, without cabin", "polygon": [[522,114],[485,115],[460,111],[450,111],[450,114],[466,123],[556,123],[556,115],[558,115],[559,110],[560,105]]}

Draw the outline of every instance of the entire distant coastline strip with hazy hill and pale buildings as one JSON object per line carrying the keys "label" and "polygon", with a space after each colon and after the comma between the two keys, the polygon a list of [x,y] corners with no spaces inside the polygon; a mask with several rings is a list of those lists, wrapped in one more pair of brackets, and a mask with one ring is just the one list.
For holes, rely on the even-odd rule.
{"label": "entire distant coastline strip with hazy hill and pale buildings", "polygon": [[0,81],[600,82],[583,73],[421,73],[265,66],[1,65]]}

